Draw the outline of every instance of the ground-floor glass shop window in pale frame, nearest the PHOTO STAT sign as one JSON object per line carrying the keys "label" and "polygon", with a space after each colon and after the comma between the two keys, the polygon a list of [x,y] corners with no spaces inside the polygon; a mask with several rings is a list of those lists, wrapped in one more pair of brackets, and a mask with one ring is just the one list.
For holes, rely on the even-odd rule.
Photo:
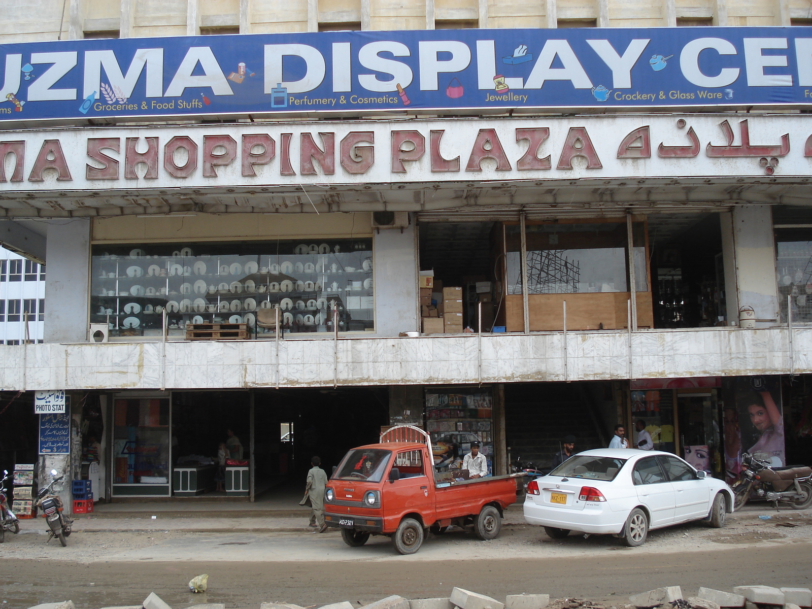
{"label": "ground-floor glass shop window in pale frame, nearest the PHOTO STAT sign", "polygon": [[113,438],[116,484],[169,483],[169,400],[115,400]]}

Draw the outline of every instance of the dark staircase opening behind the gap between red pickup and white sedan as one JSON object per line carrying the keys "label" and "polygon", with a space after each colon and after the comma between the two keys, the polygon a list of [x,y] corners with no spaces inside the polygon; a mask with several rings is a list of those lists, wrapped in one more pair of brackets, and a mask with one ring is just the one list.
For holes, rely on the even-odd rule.
{"label": "dark staircase opening behind the gap between red pickup and white sedan", "polygon": [[576,452],[603,447],[578,383],[505,387],[505,436],[512,460],[549,468],[569,434],[577,438]]}

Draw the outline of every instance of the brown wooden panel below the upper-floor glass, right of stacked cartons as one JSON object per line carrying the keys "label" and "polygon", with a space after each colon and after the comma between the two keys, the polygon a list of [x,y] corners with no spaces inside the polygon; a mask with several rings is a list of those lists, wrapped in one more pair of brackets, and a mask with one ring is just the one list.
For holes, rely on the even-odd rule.
{"label": "brown wooden panel below the upper-floor glass, right of stacked cartons", "polygon": [[[564,329],[564,300],[567,301],[568,330],[621,330],[627,327],[629,292],[588,292],[584,294],[530,294],[530,330]],[[521,295],[505,297],[508,332],[520,332],[524,326]],[[654,325],[651,292],[637,292],[637,326]]]}

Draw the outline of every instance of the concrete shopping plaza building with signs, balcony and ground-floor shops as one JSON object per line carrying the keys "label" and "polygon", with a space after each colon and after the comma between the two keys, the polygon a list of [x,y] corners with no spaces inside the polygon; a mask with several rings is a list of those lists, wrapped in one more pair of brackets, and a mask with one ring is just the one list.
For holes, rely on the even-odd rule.
{"label": "concrete shopping plaza building with signs, balcony and ground-floor shops", "polygon": [[[633,444],[645,430],[718,477],[736,477],[748,450],[808,462],[810,19],[795,0],[11,7],[0,24],[11,66],[3,91],[24,103],[7,97],[0,114],[0,234],[47,263],[49,305],[37,321],[44,343],[0,346],[2,400],[28,408],[34,391],[68,392],[74,442],[41,468],[78,477],[97,456],[97,499],[208,495],[208,459],[227,430],[244,441],[227,492],[252,499],[312,454],[338,464],[399,423],[429,430],[446,469],[474,440],[493,473],[545,466],[564,435],[605,445],[617,423]],[[648,60],[642,45],[641,67],[623,68],[630,51],[607,54],[609,42],[594,40],[614,41],[613,28],[681,40],[680,26],[692,28],[683,74],[706,84],[662,89],[662,102],[622,72],[637,79],[645,68],[648,78],[671,57]],[[732,26],[744,33],[721,29]],[[520,50],[529,29],[543,48]],[[385,31],[392,41],[375,37]],[[284,38],[248,36],[266,34]],[[198,49],[234,35],[231,47],[265,45],[263,69],[274,45],[287,45],[278,71],[244,60],[213,77]],[[412,36],[421,42],[410,46]],[[741,52],[730,36],[743,37]],[[168,50],[175,37],[194,37],[181,42],[186,57],[197,53],[182,77],[186,59]],[[134,41],[110,41],[116,56],[106,38]],[[446,38],[453,44],[436,46]],[[555,46],[564,39],[574,54]],[[502,40],[504,57],[493,50]],[[25,46],[46,42],[62,46]],[[545,76],[511,76],[548,43],[558,50]],[[584,59],[587,43],[613,66],[603,80]],[[365,55],[365,44],[388,46]],[[67,80],[25,84],[44,78],[43,63],[61,65],[59,53],[76,63],[71,45],[96,53],[95,64],[80,55],[84,80],[70,80],[66,63]],[[161,45],[166,94],[183,80],[174,101],[149,99]],[[419,65],[392,65],[418,47]],[[341,58],[351,53],[348,84]],[[283,71],[291,54],[304,63]],[[746,63],[724,63],[734,54]],[[572,76],[576,56],[582,78]],[[144,76],[127,70],[131,60]],[[393,89],[395,80],[356,74],[357,62],[404,80]],[[308,101],[301,83],[313,69],[332,78],[336,99],[357,97],[357,80],[378,92],[363,99],[384,102],[312,106],[318,96]],[[741,78],[721,84],[731,70]],[[235,95],[244,110],[232,98],[230,110],[212,110],[223,85],[259,90],[263,76],[268,106],[248,107],[245,93]],[[25,80],[12,91],[15,79]],[[556,79],[572,87],[533,101],[533,82]],[[422,89],[410,88],[418,80]],[[759,83],[787,84],[787,95],[742,106]],[[38,93],[23,99],[26,86]],[[131,102],[141,87],[144,101]],[[421,102],[426,90],[443,104]],[[472,91],[481,103],[469,102]],[[37,102],[59,100],[73,105],[67,114],[37,114]],[[153,112],[156,103],[177,106]],[[3,443],[27,442],[13,435]]]}

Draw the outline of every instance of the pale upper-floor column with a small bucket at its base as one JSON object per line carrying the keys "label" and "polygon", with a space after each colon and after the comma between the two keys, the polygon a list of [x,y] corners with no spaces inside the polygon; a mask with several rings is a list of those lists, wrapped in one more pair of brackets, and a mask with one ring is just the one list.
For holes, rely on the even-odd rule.
{"label": "pale upper-floor column with a small bucket at its base", "polygon": [[770,205],[736,205],[732,225],[738,304],[753,307],[757,327],[772,326],[780,309]]}

